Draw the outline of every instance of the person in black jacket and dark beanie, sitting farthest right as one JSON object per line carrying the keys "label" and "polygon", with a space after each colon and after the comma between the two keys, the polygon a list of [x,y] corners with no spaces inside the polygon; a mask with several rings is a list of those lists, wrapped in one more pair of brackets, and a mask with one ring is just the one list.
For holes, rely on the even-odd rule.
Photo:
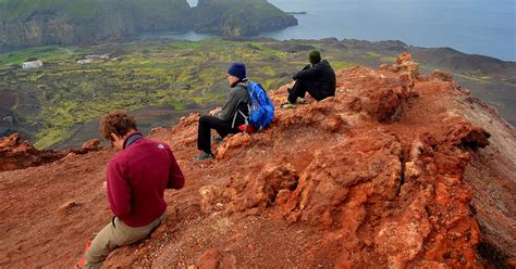
{"label": "person in black jacket and dark beanie, sitting farthest right", "polygon": [[296,107],[296,102],[305,102],[305,94],[308,91],[317,101],[335,95],[336,78],[335,72],[327,60],[321,61],[319,51],[311,51],[309,54],[310,65],[292,75],[296,81],[292,89],[288,89],[288,102],[281,105],[283,108]]}

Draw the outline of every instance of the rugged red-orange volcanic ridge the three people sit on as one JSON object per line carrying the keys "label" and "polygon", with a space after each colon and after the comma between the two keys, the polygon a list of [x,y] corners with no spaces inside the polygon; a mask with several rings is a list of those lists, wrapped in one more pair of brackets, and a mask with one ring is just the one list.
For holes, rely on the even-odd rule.
{"label": "rugged red-orange volcanic ridge the three people sit on", "polygon": [[[286,86],[270,97],[284,101]],[[172,146],[186,185],[167,192],[167,223],[108,267],[480,268],[516,258],[514,127],[449,74],[418,74],[408,54],[339,71],[335,98],[279,110],[267,130],[213,145],[216,161],[191,161],[198,118],[149,134]],[[0,266],[72,266],[110,219],[101,185],[113,154],[0,172]]]}

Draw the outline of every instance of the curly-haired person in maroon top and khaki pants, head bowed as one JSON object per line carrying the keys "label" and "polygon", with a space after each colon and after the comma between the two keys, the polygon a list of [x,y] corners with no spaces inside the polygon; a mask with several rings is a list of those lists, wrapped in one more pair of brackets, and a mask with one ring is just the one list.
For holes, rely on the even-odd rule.
{"label": "curly-haired person in maroon top and khaki pants, head bowed", "polygon": [[120,151],[108,164],[108,201],[114,216],[91,242],[84,268],[101,268],[109,252],[149,235],[167,220],[164,190],[184,185],[169,145],[145,139],[134,117],[110,113],[102,118],[100,132]]}

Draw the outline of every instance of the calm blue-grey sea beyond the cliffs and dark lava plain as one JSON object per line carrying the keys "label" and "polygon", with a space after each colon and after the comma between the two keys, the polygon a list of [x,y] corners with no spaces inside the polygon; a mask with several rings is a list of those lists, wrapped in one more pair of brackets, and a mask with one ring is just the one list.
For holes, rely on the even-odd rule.
{"label": "calm blue-grey sea beyond the cliffs and dark lava plain", "polygon": [[[197,0],[188,0],[196,5]],[[269,0],[295,15],[298,26],[265,33],[279,40],[401,40],[516,61],[516,0]],[[170,37],[170,35],[169,35]],[[193,33],[173,38],[200,40]]]}

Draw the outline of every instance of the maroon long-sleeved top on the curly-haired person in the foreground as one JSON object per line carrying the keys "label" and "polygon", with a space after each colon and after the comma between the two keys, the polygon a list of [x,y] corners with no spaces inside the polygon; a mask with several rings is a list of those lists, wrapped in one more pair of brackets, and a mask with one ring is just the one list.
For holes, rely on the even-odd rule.
{"label": "maroon long-sleeved top on the curly-haired person in the foreground", "polygon": [[181,189],[184,176],[169,145],[136,132],[108,165],[108,201],[130,227],[147,226],[167,209],[165,189]]}

